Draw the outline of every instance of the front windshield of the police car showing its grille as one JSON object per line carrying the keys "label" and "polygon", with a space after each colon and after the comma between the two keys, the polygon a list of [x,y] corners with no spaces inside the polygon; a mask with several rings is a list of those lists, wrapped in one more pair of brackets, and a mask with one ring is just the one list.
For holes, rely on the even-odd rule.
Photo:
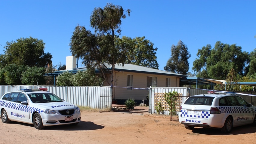
{"label": "front windshield of the police car showing its grille", "polygon": [[33,103],[50,103],[63,101],[53,93],[30,93],[28,95]]}

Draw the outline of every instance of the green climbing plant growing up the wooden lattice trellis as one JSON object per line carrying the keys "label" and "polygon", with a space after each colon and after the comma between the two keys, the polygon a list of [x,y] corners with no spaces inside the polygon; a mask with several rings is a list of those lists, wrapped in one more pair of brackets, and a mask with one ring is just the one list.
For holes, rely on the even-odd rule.
{"label": "green climbing plant growing up the wooden lattice trellis", "polygon": [[175,101],[177,100],[178,92],[173,91],[166,93],[165,92],[165,101],[168,103],[170,115],[176,115],[175,106],[177,105]]}

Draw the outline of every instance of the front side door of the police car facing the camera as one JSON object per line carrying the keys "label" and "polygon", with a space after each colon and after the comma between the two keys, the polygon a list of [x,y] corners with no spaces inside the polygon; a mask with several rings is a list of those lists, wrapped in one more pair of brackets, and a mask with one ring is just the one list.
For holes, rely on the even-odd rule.
{"label": "front side door of the police car facing the camera", "polygon": [[20,121],[28,121],[29,120],[29,110],[28,105],[21,104],[21,102],[28,102],[28,99],[25,94],[20,93],[18,97],[18,104],[16,105],[16,117]]}

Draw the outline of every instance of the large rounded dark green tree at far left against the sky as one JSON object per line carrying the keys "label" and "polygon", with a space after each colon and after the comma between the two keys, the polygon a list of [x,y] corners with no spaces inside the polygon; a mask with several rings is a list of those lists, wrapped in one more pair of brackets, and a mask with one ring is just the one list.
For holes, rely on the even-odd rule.
{"label": "large rounded dark green tree at far left against the sky", "polygon": [[[52,55],[45,53],[45,43],[37,38],[20,38],[6,42],[4,60],[7,64],[46,67],[51,63]],[[3,57],[1,57],[2,61]]]}

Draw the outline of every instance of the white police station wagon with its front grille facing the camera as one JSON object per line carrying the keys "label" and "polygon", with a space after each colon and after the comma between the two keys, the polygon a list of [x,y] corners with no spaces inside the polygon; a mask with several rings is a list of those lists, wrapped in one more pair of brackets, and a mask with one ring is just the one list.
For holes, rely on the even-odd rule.
{"label": "white police station wagon with its front grille facing the camera", "polygon": [[18,121],[34,124],[36,129],[60,124],[77,125],[81,121],[78,106],[63,101],[45,88],[5,93],[0,100],[0,110],[4,123]]}

